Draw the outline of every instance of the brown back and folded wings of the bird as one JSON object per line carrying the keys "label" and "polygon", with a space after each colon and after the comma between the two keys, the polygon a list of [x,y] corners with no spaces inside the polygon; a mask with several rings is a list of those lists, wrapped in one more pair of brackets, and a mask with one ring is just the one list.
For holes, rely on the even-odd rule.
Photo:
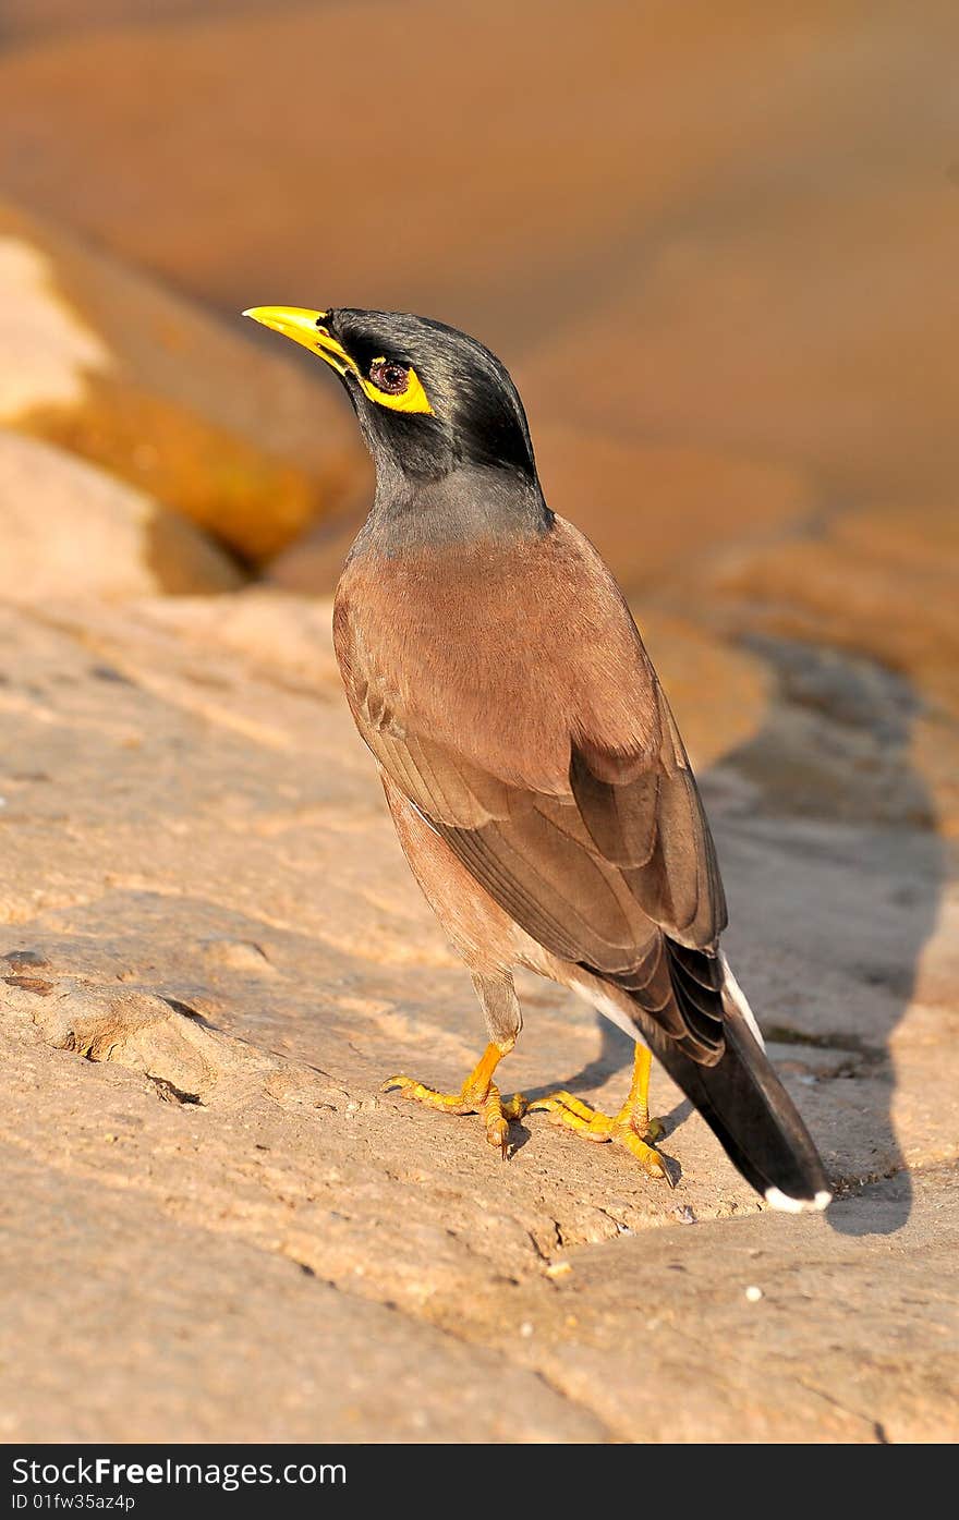
{"label": "brown back and folded wings of the bird", "polygon": [[660,682],[591,546],[558,520],[509,552],[354,561],[334,631],[363,739],[480,886],[714,1061],[716,853]]}

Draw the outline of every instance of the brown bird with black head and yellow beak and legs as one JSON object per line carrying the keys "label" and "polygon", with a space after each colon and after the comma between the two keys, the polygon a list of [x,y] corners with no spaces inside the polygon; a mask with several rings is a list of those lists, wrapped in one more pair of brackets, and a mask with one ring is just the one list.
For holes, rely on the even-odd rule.
{"label": "brown bird with black head and yellow beak and legs", "polygon": [[[652,1056],[781,1210],[831,1189],[720,947],[716,848],[673,713],[599,552],[546,503],[518,391],[477,339],[353,307],[243,313],[336,371],[375,467],[333,606],[347,701],[400,844],[465,961],[488,1043],[462,1088],[385,1090],[479,1114],[503,1155],[544,1111],[673,1184]],[[582,383],[582,377],[581,377]],[[523,1015],[514,971],[570,988],[635,1043],[605,1114],[495,1082]]]}

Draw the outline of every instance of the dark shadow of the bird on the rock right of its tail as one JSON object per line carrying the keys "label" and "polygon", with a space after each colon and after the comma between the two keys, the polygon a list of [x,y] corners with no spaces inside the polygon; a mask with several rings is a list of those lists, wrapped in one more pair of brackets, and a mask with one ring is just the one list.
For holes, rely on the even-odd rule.
{"label": "dark shadow of the bird on the rock right of its tail", "polygon": [[[787,1081],[801,1073],[805,1091],[793,1093],[839,1189],[897,1176],[866,1227],[889,1234],[912,1198],[889,1043],[944,879],[932,798],[910,762],[921,698],[865,658],[769,637],[749,646],[778,692],[761,731],[704,778],[730,897],[725,944],[777,1066]],[[828,1218],[862,1233],[854,1208]]]}

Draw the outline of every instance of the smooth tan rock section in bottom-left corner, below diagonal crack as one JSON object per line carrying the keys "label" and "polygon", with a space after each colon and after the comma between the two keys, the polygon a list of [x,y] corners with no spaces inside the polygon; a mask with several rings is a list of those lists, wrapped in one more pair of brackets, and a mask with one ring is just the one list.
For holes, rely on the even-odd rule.
{"label": "smooth tan rock section in bottom-left corner, below diagonal crack", "polygon": [[[117,1129],[100,1129],[103,1155],[126,1149]],[[185,1134],[170,1142],[191,1149]],[[11,1441],[605,1438],[600,1420],[535,1371],[318,1281],[280,1242],[263,1252],[229,1228],[173,1225],[138,1189],[105,1178],[78,1189],[29,1157],[8,1186],[0,1271],[40,1289],[20,1294],[0,1327],[5,1360],[32,1347],[30,1377],[3,1417]],[[78,1398],[90,1366],[97,1376]]]}

